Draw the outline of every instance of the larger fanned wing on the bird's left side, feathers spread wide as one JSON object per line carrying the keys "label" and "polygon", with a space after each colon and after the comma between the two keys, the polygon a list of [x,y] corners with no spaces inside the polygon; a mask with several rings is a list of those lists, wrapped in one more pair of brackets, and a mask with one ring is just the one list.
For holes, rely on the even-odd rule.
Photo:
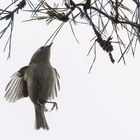
{"label": "larger fanned wing on the bird's left side, feathers spread wide", "polygon": [[24,73],[28,67],[21,68],[11,76],[11,80],[5,88],[6,94],[4,96],[9,102],[15,102],[20,98],[28,96],[27,83],[24,80]]}

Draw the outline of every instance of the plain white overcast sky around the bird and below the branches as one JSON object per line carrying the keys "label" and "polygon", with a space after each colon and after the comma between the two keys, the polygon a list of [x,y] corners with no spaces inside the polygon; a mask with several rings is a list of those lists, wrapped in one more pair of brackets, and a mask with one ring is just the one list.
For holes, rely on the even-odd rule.
{"label": "plain white overcast sky around the bird and below the branches", "polygon": [[[29,98],[16,103],[4,99],[10,76],[28,65],[31,56],[49,38],[57,25],[44,22],[15,22],[11,58],[3,53],[0,41],[0,132],[4,140],[139,140],[140,139],[140,49],[135,58],[128,54],[127,65],[112,64],[97,50],[97,59],[88,73],[93,56],[86,26],[76,27],[78,45],[70,27],[64,26],[52,46],[51,62],[60,74],[58,111],[46,112],[50,130],[34,129],[34,106]],[[120,55],[120,54],[118,54]],[[115,55],[115,57],[118,57]]]}

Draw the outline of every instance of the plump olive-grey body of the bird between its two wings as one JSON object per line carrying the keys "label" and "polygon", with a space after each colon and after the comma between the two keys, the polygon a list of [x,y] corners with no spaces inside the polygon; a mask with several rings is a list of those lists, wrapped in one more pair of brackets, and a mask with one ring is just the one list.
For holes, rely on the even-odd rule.
{"label": "plump olive-grey body of the bird between its two wings", "polygon": [[55,88],[55,73],[52,66],[31,66],[25,79],[28,95],[33,102],[50,100]]}

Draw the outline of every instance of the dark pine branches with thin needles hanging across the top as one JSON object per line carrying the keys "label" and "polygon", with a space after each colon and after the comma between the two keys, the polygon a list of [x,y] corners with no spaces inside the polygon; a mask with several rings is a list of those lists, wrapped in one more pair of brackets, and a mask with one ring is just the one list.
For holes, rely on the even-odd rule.
{"label": "dark pine branches with thin needles hanging across the top", "polygon": [[[118,46],[120,48],[118,62],[123,60],[124,64],[126,64],[125,55],[131,51],[134,56],[136,46],[138,43],[140,44],[139,0],[131,1],[136,6],[135,10],[127,7],[126,1],[123,0],[85,0],[80,3],[76,3],[75,0],[63,0],[63,3],[60,4],[58,2],[54,5],[50,4],[49,0],[39,0],[37,4],[34,4],[31,0],[21,0],[14,10],[9,10],[17,2],[18,0],[14,0],[5,9],[0,9],[0,20],[8,21],[7,26],[0,32],[0,39],[10,28],[10,35],[4,49],[6,50],[7,45],[9,45],[9,52],[11,51],[14,18],[15,14],[19,13],[19,10],[31,13],[31,18],[26,21],[44,20],[48,23],[48,26],[52,21],[57,20],[60,22],[59,27],[52,33],[47,42],[54,41],[63,25],[69,23],[72,34],[79,43],[80,41],[76,37],[72,25],[79,26],[82,23],[87,25],[87,28],[93,31],[91,36],[93,38],[93,46],[89,50],[90,53],[94,48],[93,63],[96,59],[96,47],[94,47],[96,43],[108,54],[112,63],[115,62],[112,52],[117,48],[114,46]],[[28,5],[29,9],[23,10],[25,5]],[[127,41],[122,39],[121,31],[125,33]],[[116,42],[116,44],[113,44],[113,42]]]}

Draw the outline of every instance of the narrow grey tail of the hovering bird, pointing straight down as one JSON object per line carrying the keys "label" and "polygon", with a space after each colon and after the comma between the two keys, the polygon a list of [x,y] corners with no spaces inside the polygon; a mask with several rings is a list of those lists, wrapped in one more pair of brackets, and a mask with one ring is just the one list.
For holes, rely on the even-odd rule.
{"label": "narrow grey tail of the hovering bird, pointing straight down", "polygon": [[36,129],[43,128],[47,130],[49,129],[43,107],[41,107],[38,104],[35,105],[35,128]]}

